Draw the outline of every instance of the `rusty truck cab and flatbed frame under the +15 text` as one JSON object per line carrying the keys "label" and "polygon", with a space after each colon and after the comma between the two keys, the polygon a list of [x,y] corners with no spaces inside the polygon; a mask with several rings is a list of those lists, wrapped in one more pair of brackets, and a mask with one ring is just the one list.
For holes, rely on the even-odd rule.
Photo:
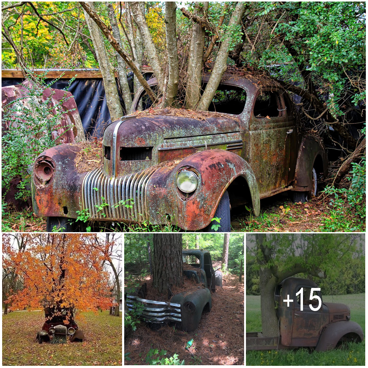
{"label": "rusty truck cab and flatbed frame under the +15 text", "polygon": [[[301,288],[304,294],[302,304]],[[280,336],[263,337],[261,332],[247,333],[247,350],[310,347],[326,351],[346,342],[363,341],[362,328],[350,321],[350,308],[345,304],[323,302],[321,292],[313,288],[317,288],[314,282],[298,277],[289,277],[279,284],[275,289],[275,305]],[[311,291],[313,296],[309,299]],[[287,303],[286,299],[291,301]],[[319,309],[314,310],[319,305]]]}

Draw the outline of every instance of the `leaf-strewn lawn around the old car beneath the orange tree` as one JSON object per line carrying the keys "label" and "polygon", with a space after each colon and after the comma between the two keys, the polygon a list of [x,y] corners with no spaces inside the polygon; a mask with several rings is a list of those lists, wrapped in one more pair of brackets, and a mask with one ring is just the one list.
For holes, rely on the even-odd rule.
{"label": "leaf-strewn lawn around the old car beneath the orange tree", "polygon": [[39,344],[43,312],[11,312],[3,315],[3,365],[121,365],[121,321],[108,311],[81,313],[83,343]]}

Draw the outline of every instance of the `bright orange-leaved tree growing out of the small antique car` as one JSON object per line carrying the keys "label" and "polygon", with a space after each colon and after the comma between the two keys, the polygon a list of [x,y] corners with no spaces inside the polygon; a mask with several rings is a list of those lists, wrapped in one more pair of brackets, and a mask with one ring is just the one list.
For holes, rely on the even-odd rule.
{"label": "bright orange-leaved tree growing out of the small antique car", "polygon": [[[90,239],[87,239],[90,238]],[[3,267],[12,267],[23,289],[8,298],[12,309],[43,307],[48,318],[64,316],[68,323],[75,311],[108,309],[109,275],[106,256],[91,247],[88,234],[39,234],[23,252],[3,235]]]}

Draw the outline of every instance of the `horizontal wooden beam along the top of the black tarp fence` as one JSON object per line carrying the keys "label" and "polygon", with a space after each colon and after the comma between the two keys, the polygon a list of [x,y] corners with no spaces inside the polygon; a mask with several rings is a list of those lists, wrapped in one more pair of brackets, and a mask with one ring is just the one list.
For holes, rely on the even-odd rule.
{"label": "horizontal wooden beam along the top of the black tarp fence", "polygon": [[[43,74],[45,69],[35,69],[33,72],[35,74]],[[142,67],[142,73],[152,73],[152,68],[148,66]],[[64,73],[64,74],[63,74]],[[63,74],[61,77],[60,75]],[[70,79],[77,75],[77,79],[97,79],[102,78],[101,72],[99,70],[49,70],[46,74],[47,78],[61,78]],[[21,70],[16,69],[2,69],[1,78],[23,78]],[[117,78],[117,72],[115,72],[115,78]]]}

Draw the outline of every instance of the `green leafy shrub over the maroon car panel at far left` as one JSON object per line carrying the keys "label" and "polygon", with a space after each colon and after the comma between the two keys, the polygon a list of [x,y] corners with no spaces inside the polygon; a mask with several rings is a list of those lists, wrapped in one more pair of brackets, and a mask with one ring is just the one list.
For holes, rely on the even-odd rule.
{"label": "green leafy shrub over the maroon car panel at far left", "polygon": [[3,106],[2,121],[9,129],[3,128],[1,185],[6,193],[11,182],[20,178],[15,197],[24,201],[31,197],[31,170],[36,157],[58,144],[51,132],[60,127],[64,113],[74,110],[65,111],[62,107],[70,98],[66,95],[55,106],[51,103],[54,92],[43,101],[43,91],[54,82],[46,84],[45,74],[36,77],[31,86],[25,86],[24,95]]}

